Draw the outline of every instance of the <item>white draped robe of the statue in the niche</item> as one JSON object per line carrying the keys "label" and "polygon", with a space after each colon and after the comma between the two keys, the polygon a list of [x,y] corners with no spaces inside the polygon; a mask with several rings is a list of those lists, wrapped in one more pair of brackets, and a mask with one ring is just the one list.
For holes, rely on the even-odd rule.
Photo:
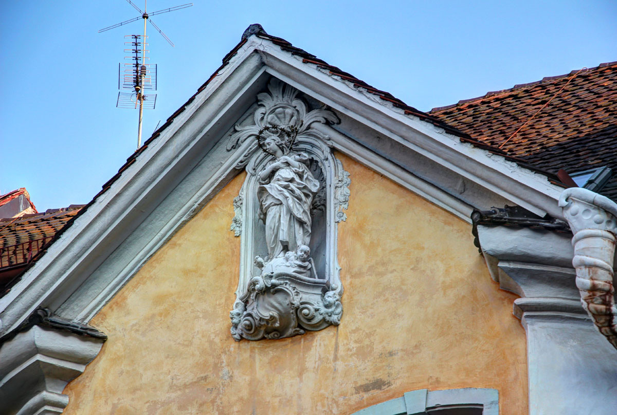
{"label": "white draped robe of the statue in the niche", "polygon": [[260,216],[265,217],[268,258],[273,259],[285,250],[296,251],[299,245],[309,245],[310,206],[317,193],[315,180],[303,157],[291,156],[299,168],[282,167],[270,175],[270,180],[257,189]]}

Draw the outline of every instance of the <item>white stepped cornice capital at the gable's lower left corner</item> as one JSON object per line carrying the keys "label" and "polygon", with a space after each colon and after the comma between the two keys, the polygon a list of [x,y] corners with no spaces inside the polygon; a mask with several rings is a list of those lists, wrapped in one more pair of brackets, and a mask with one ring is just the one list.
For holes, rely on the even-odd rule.
{"label": "white stepped cornice capital at the gable's lower left corner", "polygon": [[[64,387],[101,350],[103,340],[35,325],[0,346],[2,413],[60,414]],[[6,412],[4,412],[6,411]]]}

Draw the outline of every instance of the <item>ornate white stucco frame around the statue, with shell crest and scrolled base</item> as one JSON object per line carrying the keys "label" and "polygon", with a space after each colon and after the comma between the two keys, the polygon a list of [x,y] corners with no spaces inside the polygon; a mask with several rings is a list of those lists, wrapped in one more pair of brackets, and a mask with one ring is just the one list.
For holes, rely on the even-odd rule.
{"label": "ornate white stucco frame around the statue, with shell crest and scrolled base", "polygon": [[[236,340],[247,338],[259,340],[260,338],[290,337],[302,334],[305,330],[321,330],[328,325],[338,325],[342,314],[341,296],[343,293],[342,283],[339,276],[337,261],[337,224],[346,220],[344,209],[347,209],[349,201],[349,173],[334,157],[331,150],[329,137],[317,129],[313,124],[328,124],[337,122],[336,115],[324,108],[307,111],[307,104],[297,98],[299,91],[289,85],[272,78],[268,84],[268,93],[260,93],[258,106],[254,114],[254,124],[247,126],[236,125],[235,132],[231,135],[228,150],[236,148],[243,142],[252,140],[246,153],[236,165],[237,169],[245,169],[247,177],[242,185],[239,195],[234,198],[235,217],[231,224],[231,230],[236,237],[241,237],[240,275],[236,290],[234,309],[230,312],[232,328],[231,333]],[[256,243],[254,232],[257,227],[255,211],[257,209],[256,190],[259,186],[258,172],[272,158],[257,146],[255,136],[267,127],[267,115],[283,107],[293,113],[290,125],[281,125],[283,128],[292,127],[297,132],[294,149],[309,155],[310,159],[317,164],[322,174],[321,186],[323,187],[323,203],[325,209],[325,266],[323,277],[320,280],[299,280],[281,277],[275,279],[263,278],[256,274],[254,258]],[[289,296],[289,304],[286,305],[286,313],[292,320],[289,322],[289,330],[273,330],[270,333],[254,331],[255,325],[259,327],[279,327],[278,317],[276,322],[267,322],[274,311],[262,317],[255,317],[255,303],[260,295],[266,295],[267,291],[286,291]],[[251,311],[251,307],[253,307]],[[276,311],[280,314],[280,311]],[[263,314],[263,313],[262,313]],[[251,328],[248,328],[251,325]],[[281,324],[282,326],[282,324]],[[257,333],[257,334],[255,334]]]}

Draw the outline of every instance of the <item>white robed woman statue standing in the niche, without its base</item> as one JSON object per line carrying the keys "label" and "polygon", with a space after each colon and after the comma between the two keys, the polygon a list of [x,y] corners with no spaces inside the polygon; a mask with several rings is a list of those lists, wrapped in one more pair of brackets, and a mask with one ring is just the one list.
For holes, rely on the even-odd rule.
{"label": "white robed woman statue standing in the niche, without its base", "polygon": [[276,157],[259,174],[257,189],[259,217],[265,222],[267,261],[310,241],[310,206],[319,182],[305,164],[308,156],[291,152],[290,141],[281,132],[260,143],[263,151]]}

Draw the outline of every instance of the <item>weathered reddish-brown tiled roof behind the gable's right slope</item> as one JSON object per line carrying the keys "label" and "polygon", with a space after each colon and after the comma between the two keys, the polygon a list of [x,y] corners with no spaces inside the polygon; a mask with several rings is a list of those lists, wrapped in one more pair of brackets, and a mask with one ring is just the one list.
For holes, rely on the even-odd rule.
{"label": "weathered reddish-brown tiled roof behind the gable's right slope", "polygon": [[617,199],[617,62],[489,92],[430,114],[553,174],[610,167],[615,174],[600,193]]}

